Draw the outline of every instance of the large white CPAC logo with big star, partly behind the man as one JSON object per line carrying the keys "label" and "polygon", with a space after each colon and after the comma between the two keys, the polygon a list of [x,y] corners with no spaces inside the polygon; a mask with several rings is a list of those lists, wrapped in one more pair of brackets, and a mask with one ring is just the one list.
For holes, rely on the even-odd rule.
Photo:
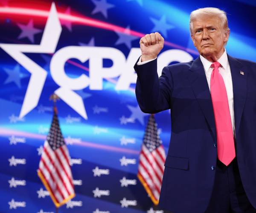
{"label": "large white CPAC logo with big star, partly behind the man", "polygon": [[[87,119],[87,113],[83,100],[74,90],[81,90],[87,86],[90,89],[102,90],[104,78],[119,77],[116,90],[128,89],[131,83],[136,83],[137,75],[132,67],[140,55],[140,48],[132,48],[127,59],[120,50],[110,47],[66,46],[55,52],[61,31],[61,23],[58,19],[55,4],[52,3],[39,45],[0,44],[0,47],[5,52],[31,73],[29,85],[20,110],[20,118],[38,105],[47,77],[47,71],[24,53],[54,54],[50,62],[50,72],[55,83],[60,86],[55,90],[55,94],[84,119]],[[70,78],[66,75],[64,64],[71,58],[76,58],[82,63],[89,59],[89,77],[82,74],[79,78]],[[103,59],[112,60],[113,66],[103,67]],[[171,49],[160,54],[157,60],[158,67],[162,68],[172,61],[188,62],[192,59],[192,56],[185,51]],[[160,72],[161,70],[158,71],[158,73]]]}

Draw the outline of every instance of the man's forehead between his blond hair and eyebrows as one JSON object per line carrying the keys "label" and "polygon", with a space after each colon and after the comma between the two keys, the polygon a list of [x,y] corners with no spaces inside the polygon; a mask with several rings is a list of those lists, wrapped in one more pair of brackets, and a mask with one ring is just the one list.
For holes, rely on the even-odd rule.
{"label": "man's forehead between his blond hair and eyebrows", "polygon": [[221,19],[218,16],[201,15],[192,21],[193,29],[207,27],[207,26],[221,26]]}

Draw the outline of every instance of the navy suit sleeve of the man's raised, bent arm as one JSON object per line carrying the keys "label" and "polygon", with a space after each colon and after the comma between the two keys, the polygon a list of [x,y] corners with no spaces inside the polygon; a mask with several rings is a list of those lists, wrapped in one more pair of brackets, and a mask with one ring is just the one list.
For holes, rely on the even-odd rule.
{"label": "navy suit sleeve of the man's raised, bent arm", "polygon": [[166,66],[162,75],[157,75],[157,59],[143,65],[134,65],[137,73],[136,98],[140,109],[145,113],[157,113],[170,109],[173,78]]}

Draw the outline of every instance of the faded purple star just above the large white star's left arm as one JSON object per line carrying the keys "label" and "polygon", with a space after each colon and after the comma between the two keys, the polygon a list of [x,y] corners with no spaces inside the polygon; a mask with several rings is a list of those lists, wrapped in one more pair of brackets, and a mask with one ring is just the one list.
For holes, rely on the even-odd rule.
{"label": "faded purple star just above the large white star's left arm", "polygon": [[21,33],[18,36],[18,39],[27,37],[31,43],[34,43],[34,35],[42,32],[41,29],[34,28],[33,20],[29,20],[27,25],[17,23],[19,28],[21,29]]}

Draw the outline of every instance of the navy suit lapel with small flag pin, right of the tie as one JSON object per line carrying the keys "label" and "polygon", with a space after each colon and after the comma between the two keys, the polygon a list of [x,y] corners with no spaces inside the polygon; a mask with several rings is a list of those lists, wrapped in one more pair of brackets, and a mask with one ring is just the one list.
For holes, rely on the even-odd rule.
{"label": "navy suit lapel with small flag pin, right of the tie", "polygon": [[228,60],[230,64],[232,84],[233,84],[236,135],[238,135],[238,130],[241,122],[241,116],[244,109],[244,103],[245,103],[246,93],[247,93],[246,91],[247,73],[244,71],[244,69],[242,69],[242,64],[238,60],[230,57],[229,55],[228,55]]}

